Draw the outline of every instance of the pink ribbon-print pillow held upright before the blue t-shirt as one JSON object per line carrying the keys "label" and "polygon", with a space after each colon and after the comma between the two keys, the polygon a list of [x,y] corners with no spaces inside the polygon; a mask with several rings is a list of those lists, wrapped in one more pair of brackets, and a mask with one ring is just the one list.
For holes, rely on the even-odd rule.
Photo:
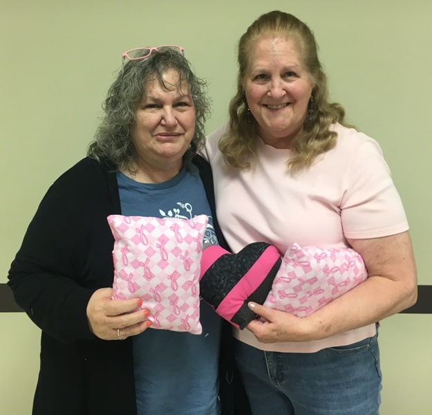
{"label": "pink ribbon-print pillow held upright before the blue t-shirt", "polygon": [[153,329],[202,333],[199,278],[208,216],[107,220],[115,239],[113,298],[141,298]]}

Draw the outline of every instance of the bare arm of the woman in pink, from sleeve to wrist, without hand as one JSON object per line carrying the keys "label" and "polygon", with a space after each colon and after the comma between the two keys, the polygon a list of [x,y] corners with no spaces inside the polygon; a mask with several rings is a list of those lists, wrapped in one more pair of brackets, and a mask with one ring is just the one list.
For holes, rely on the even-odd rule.
{"label": "bare arm of the woman in pink, from sleeve to wrist, without hand", "polygon": [[349,242],[364,258],[368,279],[306,317],[313,338],[378,322],[417,300],[417,271],[408,232]]}

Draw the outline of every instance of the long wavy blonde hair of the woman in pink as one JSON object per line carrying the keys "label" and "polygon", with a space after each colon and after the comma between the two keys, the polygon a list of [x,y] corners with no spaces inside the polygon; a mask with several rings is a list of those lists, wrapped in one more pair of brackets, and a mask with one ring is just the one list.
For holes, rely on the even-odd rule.
{"label": "long wavy blonde hair of the woman in pink", "polygon": [[328,102],[327,77],[318,59],[318,46],[312,31],[297,17],[279,10],[261,15],[238,42],[237,93],[229,104],[229,131],[221,138],[219,149],[227,165],[243,169],[251,167],[248,160],[255,155],[254,138],[258,124],[247,108],[243,81],[254,44],[269,34],[282,35],[297,42],[301,64],[314,84],[303,133],[295,138],[295,156],[288,161],[290,171],[298,172],[310,166],[319,154],[335,147],[337,133],[329,131],[329,127],[335,122],[345,124],[345,111],[340,104]]}

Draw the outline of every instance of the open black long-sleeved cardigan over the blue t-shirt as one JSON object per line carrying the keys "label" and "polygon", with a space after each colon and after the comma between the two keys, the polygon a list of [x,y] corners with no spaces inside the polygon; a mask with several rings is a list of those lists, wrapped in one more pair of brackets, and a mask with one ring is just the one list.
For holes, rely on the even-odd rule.
{"label": "open black long-sleeved cardigan over the blue t-shirt", "polygon": [[[196,156],[221,246],[211,169]],[[33,415],[136,414],[132,339],[96,338],[86,306],[113,279],[113,235],[106,221],[121,214],[113,166],[84,158],[50,187],[9,271],[15,301],[42,330],[41,365]],[[243,395],[234,410],[232,336],[225,325],[220,356],[223,414],[247,414]],[[237,392],[236,392],[237,394]],[[154,415],[154,414],[151,414]],[[156,414],[157,415],[157,414]]]}

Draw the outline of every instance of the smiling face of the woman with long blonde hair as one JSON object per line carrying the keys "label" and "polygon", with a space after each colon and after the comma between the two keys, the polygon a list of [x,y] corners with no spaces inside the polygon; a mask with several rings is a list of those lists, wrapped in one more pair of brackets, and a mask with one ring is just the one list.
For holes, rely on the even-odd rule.
{"label": "smiling face of the woman with long blonde hair", "polygon": [[243,88],[265,144],[290,148],[302,130],[313,88],[297,44],[283,36],[257,40]]}

